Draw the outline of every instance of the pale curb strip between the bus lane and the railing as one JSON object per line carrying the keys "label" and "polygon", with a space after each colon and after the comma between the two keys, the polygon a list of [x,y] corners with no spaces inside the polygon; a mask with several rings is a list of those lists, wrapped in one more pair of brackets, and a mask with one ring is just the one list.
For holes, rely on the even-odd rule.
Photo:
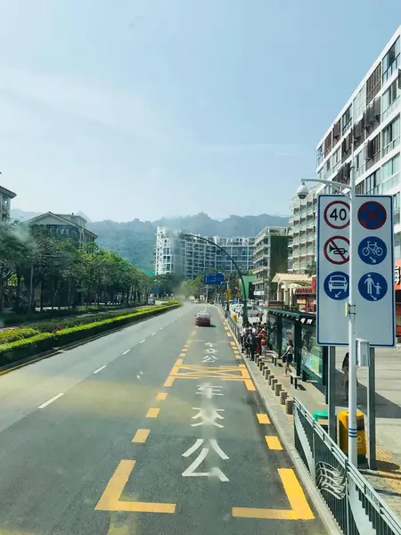
{"label": "pale curb strip between the bus lane and the railing", "polygon": [[[233,334],[233,340],[237,344],[238,349],[241,350],[240,344],[236,339],[235,334],[231,329],[231,326],[228,322],[226,322],[226,324],[230,329],[230,332]],[[255,374],[255,371],[250,367],[249,360],[247,358],[242,358],[242,360],[245,366],[247,366],[248,372],[250,373],[250,377],[258,390],[258,394],[265,403],[266,411],[270,416],[276,431],[280,435],[282,443],[285,444],[285,450],[289,453],[291,461],[299,474],[299,478],[304,484],[304,487],[307,490],[307,494],[313,502],[317,514],[322,520],[325,529],[330,534],[342,535],[342,531],[340,531],[338,524],[335,522],[329,507],[326,506],[326,503],[324,502],[320,492],[316,489],[314,482],[310,477],[310,474],[307,472],[307,468],[305,467],[301,457],[299,456],[297,449],[295,449],[295,445],[291,440],[293,432],[292,430],[291,432],[289,432],[289,430],[286,429],[286,427],[288,428],[289,421],[287,416],[282,411],[282,406],[278,403],[273,393],[270,393],[268,391],[266,395],[263,389],[261,389],[261,386],[266,384],[266,380],[262,377],[262,375]]]}

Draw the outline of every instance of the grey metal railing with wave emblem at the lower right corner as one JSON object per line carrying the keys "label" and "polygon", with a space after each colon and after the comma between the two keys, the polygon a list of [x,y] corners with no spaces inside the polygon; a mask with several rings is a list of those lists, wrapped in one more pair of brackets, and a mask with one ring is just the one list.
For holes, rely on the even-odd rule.
{"label": "grey metal railing with wave emblem at the lower right corner", "polygon": [[401,523],[339,446],[294,399],[295,447],[345,535],[401,535]]}

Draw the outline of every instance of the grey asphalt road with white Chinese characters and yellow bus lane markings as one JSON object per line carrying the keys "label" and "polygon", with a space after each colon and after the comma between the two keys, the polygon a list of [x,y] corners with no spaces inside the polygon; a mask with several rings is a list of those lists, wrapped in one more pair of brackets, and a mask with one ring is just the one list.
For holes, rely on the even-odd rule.
{"label": "grey asphalt road with white Chinese characters and yellow bus lane markings", "polygon": [[0,535],[321,535],[217,308],[0,377]]}

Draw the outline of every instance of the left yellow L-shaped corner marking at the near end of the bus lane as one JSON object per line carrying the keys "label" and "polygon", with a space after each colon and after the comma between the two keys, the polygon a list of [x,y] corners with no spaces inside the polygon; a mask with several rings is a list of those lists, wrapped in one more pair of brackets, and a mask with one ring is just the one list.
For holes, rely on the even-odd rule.
{"label": "left yellow L-shaped corner marking at the near end of the bus lane", "polygon": [[135,502],[120,500],[136,461],[122,460],[110,478],[102,497],[94,507],[96,511],[125,511],[129,513],[176,513],[176,504]]}

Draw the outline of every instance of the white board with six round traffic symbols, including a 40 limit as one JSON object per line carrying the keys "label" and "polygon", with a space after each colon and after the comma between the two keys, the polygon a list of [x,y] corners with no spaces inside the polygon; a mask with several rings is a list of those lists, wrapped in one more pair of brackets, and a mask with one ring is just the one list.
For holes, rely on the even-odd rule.
{"label": "white board with six round traffic symbols, including a 40 limit", "polygon": [[[357,195],[353,245],[356,338],[393,346],[396,336],[392,197]],[[349,199],[318,196],[317,343],[348,344]]]}

